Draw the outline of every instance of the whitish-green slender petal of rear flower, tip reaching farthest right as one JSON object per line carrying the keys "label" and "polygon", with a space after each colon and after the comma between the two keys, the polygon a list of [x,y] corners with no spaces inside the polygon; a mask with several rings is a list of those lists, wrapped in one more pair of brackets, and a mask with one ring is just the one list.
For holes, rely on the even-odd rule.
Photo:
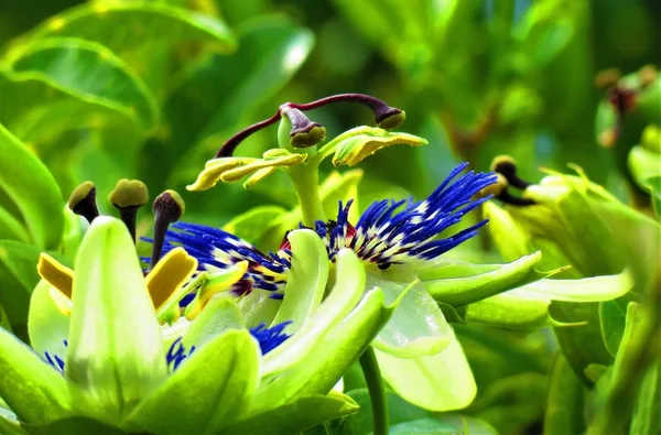
{"label": "whitish-green slender petal of rear flower, tip reaching farthest right", "polygon": [[628,269],[617,275],[582,280],[541,280],[512,290],[519,297],[566,302],[599,302],[622,296],[633,289],[633,276]]}

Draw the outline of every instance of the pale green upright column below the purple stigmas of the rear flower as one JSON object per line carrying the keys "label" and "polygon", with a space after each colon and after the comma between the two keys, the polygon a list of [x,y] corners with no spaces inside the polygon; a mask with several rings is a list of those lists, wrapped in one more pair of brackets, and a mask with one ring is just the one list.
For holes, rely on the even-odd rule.
{"label": "pale green upright column below the purple stigmas of the rear flower", "polygon": [[295,150],[290,143],[290,131],[292,124],[286,117],[282,117],[278,128],[278,143],[280,148],[294,153],[306,153],[307,160],[286,170],[292,185],[296,191],[303,225],[314,228],[316,220],[326,221],[326,214],[319,196],[319,159],[316,156],[316,146]]}

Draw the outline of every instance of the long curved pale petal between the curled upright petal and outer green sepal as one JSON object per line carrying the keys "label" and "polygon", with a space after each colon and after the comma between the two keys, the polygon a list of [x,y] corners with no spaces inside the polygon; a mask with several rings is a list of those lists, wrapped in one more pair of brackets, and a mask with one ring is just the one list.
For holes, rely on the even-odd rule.
{"label": "long curved pale petal between the curled upright petal and outer green sepal", "polygon": [[293,337],[264,357],[262,376],[286,370],[312,355],[311,349],[325,340],[333,328],[354,309],[364,291],[362,262],[353,250],[342,249],[337,253],[337,278],[333,290]]}

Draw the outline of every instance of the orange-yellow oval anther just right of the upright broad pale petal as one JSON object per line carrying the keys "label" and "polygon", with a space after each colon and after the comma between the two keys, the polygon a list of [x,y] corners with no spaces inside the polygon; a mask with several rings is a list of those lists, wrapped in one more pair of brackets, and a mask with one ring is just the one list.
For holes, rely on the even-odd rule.
{"label": "orange-yellow oval anther just right of the upright broad pale petal", "polygon": [[159,309],[191,279],[197,270],[197,260],[183,248],[167,252],[147,275],[147,287],[154,308]]}

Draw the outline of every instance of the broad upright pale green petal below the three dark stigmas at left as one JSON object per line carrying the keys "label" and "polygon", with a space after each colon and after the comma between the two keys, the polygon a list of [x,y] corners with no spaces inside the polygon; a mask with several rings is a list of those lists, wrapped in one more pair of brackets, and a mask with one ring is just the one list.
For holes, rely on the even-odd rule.
{"label": "broad upright pale green petal below the three dark stigmas at left", "polygon": [[161,330],[133,240],[99,217],[76,259],[65,373],[87,412],[116,422],[167,376]]}

